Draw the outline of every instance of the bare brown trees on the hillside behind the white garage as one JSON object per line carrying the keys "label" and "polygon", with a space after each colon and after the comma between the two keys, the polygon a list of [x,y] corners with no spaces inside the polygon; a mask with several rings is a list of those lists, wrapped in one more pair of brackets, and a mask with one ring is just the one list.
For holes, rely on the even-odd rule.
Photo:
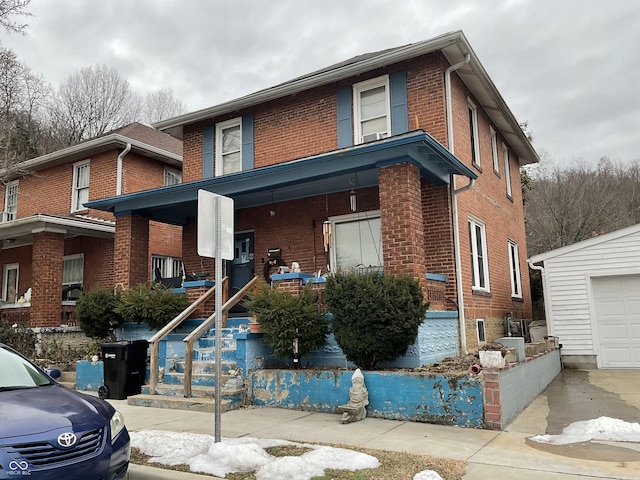
{"label": "bare brown trees on the hillside behind the white garage", "polygon": [[640,164],[542,167],[529,179],[527,250],[546,252],[640,220]]}

